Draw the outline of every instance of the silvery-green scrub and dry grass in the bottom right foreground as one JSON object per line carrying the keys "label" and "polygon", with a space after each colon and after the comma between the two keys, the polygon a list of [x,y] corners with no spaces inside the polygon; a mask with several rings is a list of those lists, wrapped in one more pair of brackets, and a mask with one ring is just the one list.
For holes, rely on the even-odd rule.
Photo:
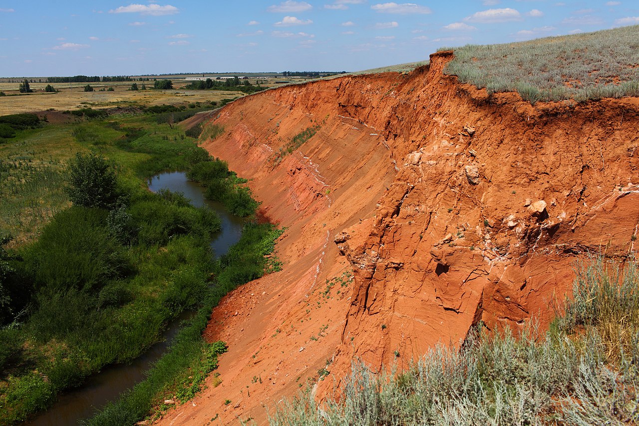
{"label": "silvery-green scrub and dry grass in the bottom right foreground", "polygon": [[[319,409],[301,395],[273,425],[635,424],[639,421],[639,274],[602,259],[579,265],[574,299],[545,335],[477,329],[461,350],[438,345],[403,374],[353,363]],[[397,351],[399,354],[399,351]],[[396,354],[396,355],[397,355]]]}

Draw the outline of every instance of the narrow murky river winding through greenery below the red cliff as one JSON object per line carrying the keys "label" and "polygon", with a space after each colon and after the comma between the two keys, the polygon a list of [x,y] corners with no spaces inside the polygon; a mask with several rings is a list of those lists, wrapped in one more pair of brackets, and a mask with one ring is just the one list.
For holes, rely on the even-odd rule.
{"label": "narrow murky river winding through greenery below the red cliff", "polygon": [[[187,180],[183,171],[160,173],[150,178],[148,187],[153,192],[160,189],[181,192],[191,200],[192,205],[196,207],[206,205],[220,215],[222,230],[216,233],[211,241],[215,256],[226,254],[228,249],[242,237],[243,220],[229,214],[220,203],[204,200],[203,187]],[[102,372],[90,377],[80,388],[61,395],[54,406],[26,424],[68,426],[91,416],[107,402],[115,400],[120,393],[144,379],[144,374],[166,352],[169,343],[180,329],[181,322],[189,319],[193,314],[194,312],[183,312],[173,320],[163,335],[164,339],[155,343],[132,363],[104,368]]]}

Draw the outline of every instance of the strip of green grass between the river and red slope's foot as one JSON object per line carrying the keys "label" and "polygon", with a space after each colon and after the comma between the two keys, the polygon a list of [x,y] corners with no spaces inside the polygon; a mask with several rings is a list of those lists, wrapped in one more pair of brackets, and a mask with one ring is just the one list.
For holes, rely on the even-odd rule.
{"label": "strip of green grass between the river and red slope's foot", "polygon": [[[215,280],[197,315],[178,333],[169,351],[148,373],[148,378],[84,424],[132,424],[146,417],[157,417],[167,408],[162,403],[164,400],[177,399],[183,403],[194,397],[201,390],[206,375],[213,371],[212,363],[217,366],[217,360],[212,361],[211,346],[202,338],[211,310],[227,292],[268,272],[267,256],[282,232],[270,224],[247,223],[240,241],[216,262]],[[224,345],[221,342],[212,344],[218,349]]]}

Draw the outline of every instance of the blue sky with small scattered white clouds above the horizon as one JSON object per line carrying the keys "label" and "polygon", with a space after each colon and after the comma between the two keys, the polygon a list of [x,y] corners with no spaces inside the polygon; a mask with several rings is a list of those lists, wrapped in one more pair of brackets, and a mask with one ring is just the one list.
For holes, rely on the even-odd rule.
{"label": "blue sky with small scattered white clouds above the horizon", "polygon": [[355,71],[639,24],[637,0],[409,1],[0,0],[0,77]]}

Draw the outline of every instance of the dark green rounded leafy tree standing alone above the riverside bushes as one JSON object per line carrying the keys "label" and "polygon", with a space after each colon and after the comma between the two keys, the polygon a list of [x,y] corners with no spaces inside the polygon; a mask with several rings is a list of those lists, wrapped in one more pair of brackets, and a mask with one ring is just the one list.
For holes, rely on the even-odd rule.
{"label": "dark green rounded leafy tree standing alone above the riverside bushes", "polygon": [[116,182],[116,173],[104,157],[77,153],[70,164],[66,193],[75,205],[107,208],[116,201]]}

